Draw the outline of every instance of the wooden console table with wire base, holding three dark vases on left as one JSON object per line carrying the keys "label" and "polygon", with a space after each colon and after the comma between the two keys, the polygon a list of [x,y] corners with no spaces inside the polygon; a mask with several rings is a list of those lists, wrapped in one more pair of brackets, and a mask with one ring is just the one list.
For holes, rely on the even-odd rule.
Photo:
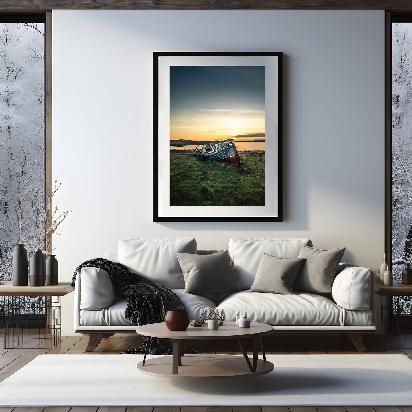
{"label": "wooden console table with wire base, holding three dark vases on left", "polygon": [[[60,297],[73,292],[70,282],[54,286],[0,285],[4,296],[3,346],[5,349],[52,348],[61,342]],[[23,296],[33,297],[23,299]]]}

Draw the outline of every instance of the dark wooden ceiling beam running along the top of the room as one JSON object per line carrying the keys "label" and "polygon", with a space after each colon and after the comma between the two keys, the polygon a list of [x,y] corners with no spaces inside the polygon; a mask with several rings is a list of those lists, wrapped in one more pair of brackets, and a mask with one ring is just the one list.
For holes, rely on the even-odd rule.
{"label": "dark wooden ceiling beam running along the top of the room", "polygon": [[52,9],[384,9],[411,12],[411,0],[0,0],[0,12]]}

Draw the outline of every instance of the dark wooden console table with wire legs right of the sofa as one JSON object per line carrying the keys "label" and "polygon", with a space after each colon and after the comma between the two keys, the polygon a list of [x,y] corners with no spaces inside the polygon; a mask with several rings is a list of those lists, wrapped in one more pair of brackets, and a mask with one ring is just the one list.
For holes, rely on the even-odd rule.
{"label": "dark wooden console table with wire legs right of the sofa", "polygon": [[[412,296],[412,285],[393,282],[393,286],[382,286],[375,293],[382,297],[382,333],[385,335],[385,344],[388,344],[387,341],[390,336],[394,347],[409,347],[406,337],[405,344],[400,344],[399,322],[405,315],[401,313],[402,308],[399,304],[399,297]],[[393,300],[394,296],[398,297],[396,301]],[[391,298],[391,301],[389,301],[389,298]],[[391,326],[390,332],[388,331],[388,321]]]}

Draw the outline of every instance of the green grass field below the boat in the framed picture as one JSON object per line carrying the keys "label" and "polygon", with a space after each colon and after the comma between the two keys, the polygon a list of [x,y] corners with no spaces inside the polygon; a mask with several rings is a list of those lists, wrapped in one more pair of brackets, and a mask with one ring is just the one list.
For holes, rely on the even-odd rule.
{"label": "green grass field below the boat in the framed picture", "polygon": [[265,206],[265,155],[235,163],[170,155],[170,206]]}

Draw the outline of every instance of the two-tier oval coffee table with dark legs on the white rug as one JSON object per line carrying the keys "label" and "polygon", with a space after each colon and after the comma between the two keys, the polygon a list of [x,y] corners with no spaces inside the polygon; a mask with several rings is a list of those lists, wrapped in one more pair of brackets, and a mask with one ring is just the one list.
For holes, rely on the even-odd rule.
{"label": "two-tier oval coffee table with dark legs on the white rug", "polygon": [[[250,328],[239,328],[236,322],[225,322],[218,330],[209,330],[207,324],[201,327],[189,325],[187,330],[173,331],[165,323],[151,323],[136,328],[139,335],[147,336],[143,361],[138,363],[140,372],[163,378],[173,379],[216,379],[241,378],[265,375],[273,370],[273,363],[266,360],[262,336],[273,332],[273,326],[265,323],[250,322]],[[147,348],[151,337],[173,339],[173,355],[146,360]],[[252,339],[252,362],[243,348],[243,339]],[[236,339],[243,356],[182,354],[182,340]],[[187,343],[187,342],[185,342]],[[263,360],[258,358],[259,346]],[[187,344],[184,344],[187,347]]]}

